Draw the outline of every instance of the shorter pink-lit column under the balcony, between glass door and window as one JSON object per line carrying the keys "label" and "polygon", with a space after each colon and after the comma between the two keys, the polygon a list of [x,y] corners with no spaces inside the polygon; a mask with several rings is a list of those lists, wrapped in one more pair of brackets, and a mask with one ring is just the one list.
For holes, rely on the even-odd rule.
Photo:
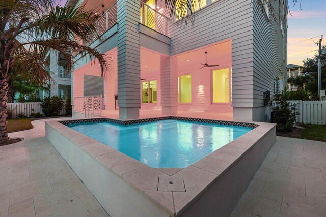
{"label": "shorter pink-lit column under the balcony, between glass door and window", "polygon": [[161,56],[162,114],[178,113],[178,58]]}

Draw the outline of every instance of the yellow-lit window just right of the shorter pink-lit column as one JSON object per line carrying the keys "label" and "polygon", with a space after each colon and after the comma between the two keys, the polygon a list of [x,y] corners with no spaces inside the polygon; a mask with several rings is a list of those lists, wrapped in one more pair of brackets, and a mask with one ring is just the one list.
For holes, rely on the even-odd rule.
{"label": "yellow-lit window just right of the shorter pink-lit column", "polygon": [[179,103],[192,102],[192,75],[180,75],[178,77],[178,101]]}

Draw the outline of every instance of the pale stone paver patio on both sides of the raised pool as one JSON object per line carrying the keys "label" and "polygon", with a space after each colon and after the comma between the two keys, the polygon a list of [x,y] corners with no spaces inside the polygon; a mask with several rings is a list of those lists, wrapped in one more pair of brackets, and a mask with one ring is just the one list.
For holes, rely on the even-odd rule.
{"label": "pale stone paver patio on both sides of the raised pool", "polygon": [[[32,123],[0,146],[0,216],[108,216]],[[325,142],[277,137],[231,216],[325,216],[324,176]]]}

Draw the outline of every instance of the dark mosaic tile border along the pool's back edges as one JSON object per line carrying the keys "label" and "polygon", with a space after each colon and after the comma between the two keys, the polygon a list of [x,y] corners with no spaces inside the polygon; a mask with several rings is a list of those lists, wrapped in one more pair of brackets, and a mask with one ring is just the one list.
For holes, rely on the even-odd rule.
{"label": "dark mosaic tile border along the pool's back edges", "polygon": [[203,122],[203,123],[216,123],[219,125],[232,125],[239,127],[251,127],[256,128],[259,125],[255,123],[244,123],[244,122],[234,122],[234,121],[226,121],[226,120],[211,120],[211,119],[201,119],[201,118],[192,118],[192,117],[176,117],[176,116],[167,116],[167,117],[154,117],[154,118],[145,118],[145,119],[136,119],[136,120],[117,120],[106,117],[101,118],[89,118],[89,119],[78,119],[78,120],[63,120],[59,121],[63,125],[71,125],[73,123],[88,123],[88,122],[112,122],[117,123],[118,125],[132,125],[134,123],[144,123],[144,122],[152,122],[157,120],[184,120],[184,121],[194,121],[194,122]]}

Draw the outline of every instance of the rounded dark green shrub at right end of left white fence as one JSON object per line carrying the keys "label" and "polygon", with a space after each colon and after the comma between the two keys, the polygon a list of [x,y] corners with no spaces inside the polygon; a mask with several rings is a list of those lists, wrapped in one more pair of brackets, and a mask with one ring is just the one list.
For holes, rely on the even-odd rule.
{"label": "rounded dark green shrub at right end of left white fence", "polygon": [[64,99],[61,97],[44,97],[41,102],[42,111],[45,116],[58,116],[64,107]]}

